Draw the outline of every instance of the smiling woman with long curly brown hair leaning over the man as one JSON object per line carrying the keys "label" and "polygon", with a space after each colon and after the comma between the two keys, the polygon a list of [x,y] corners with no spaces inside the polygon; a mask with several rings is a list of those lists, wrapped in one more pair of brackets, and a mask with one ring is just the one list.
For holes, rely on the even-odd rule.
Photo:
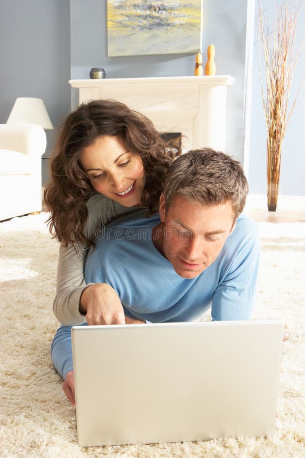
{"label": "smiling woman with long curly brown hair leaning over the man", "polygon": [[166,171],[179,153],[150,120],[114,100],[82,104],[66,118],[44,193],[50,231],[60,242],[53,302],[60,323],[125,323],[109,285],[85,284],[87,250],[102,225],[138,207],[158,211]]}

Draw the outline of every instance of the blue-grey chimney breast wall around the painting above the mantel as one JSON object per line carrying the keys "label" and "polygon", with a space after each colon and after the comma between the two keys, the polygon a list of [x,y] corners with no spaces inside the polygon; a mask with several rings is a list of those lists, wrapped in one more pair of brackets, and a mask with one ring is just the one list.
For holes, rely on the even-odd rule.
{"label": "blue-grey chimney breast wall around the painting above the mantel", "polygon": [[[194,74],[195,55],[167,54],[109,58],[106,1],[70,0],[70,9],[72,79],[89,78],[92,67],[103,67],[107,78]],[[231,75],[235,78],[234,85],[228,88],[226,145],[227,152],[240,161],[243,161],[246,19],[245,0],[230,0],[230,2],[204,0],[203,48],[206,49],[210,43],[213,43],[216,48],[217,74]],[[205,57],[204,52],[204,60]],[[73,90],[72,107],[77,103],[77,90]]]}

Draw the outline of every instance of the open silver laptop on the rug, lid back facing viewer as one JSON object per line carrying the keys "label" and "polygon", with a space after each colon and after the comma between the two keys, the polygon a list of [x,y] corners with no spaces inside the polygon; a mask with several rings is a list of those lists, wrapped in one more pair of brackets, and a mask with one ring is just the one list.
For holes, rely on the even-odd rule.
{"label": "open silver laptop on the rug, lid back facing viewer", "polygon": [[72,327],[81,447],[275,432],[283,321]]}

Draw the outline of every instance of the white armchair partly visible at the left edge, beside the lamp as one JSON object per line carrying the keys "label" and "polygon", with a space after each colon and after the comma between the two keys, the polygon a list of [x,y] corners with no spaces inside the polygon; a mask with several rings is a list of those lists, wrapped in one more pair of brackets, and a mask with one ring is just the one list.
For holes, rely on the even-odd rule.
{"label": "white armchair partly visible at the left edge, beside the lamp", "polygon": [[41,211],[46,134],[35,124],[0,124],[0,221]]}

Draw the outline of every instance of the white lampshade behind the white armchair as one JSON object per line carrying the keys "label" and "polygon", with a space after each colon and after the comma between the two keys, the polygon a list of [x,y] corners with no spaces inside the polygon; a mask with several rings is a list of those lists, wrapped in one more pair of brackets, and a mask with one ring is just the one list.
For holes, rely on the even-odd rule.
{"label": "white lampshade behind the white armchair", "polygon": [[42,99],[18,97],[10,113],[7,124],[38,124],[43,129],[53,129],[47,109]]}

